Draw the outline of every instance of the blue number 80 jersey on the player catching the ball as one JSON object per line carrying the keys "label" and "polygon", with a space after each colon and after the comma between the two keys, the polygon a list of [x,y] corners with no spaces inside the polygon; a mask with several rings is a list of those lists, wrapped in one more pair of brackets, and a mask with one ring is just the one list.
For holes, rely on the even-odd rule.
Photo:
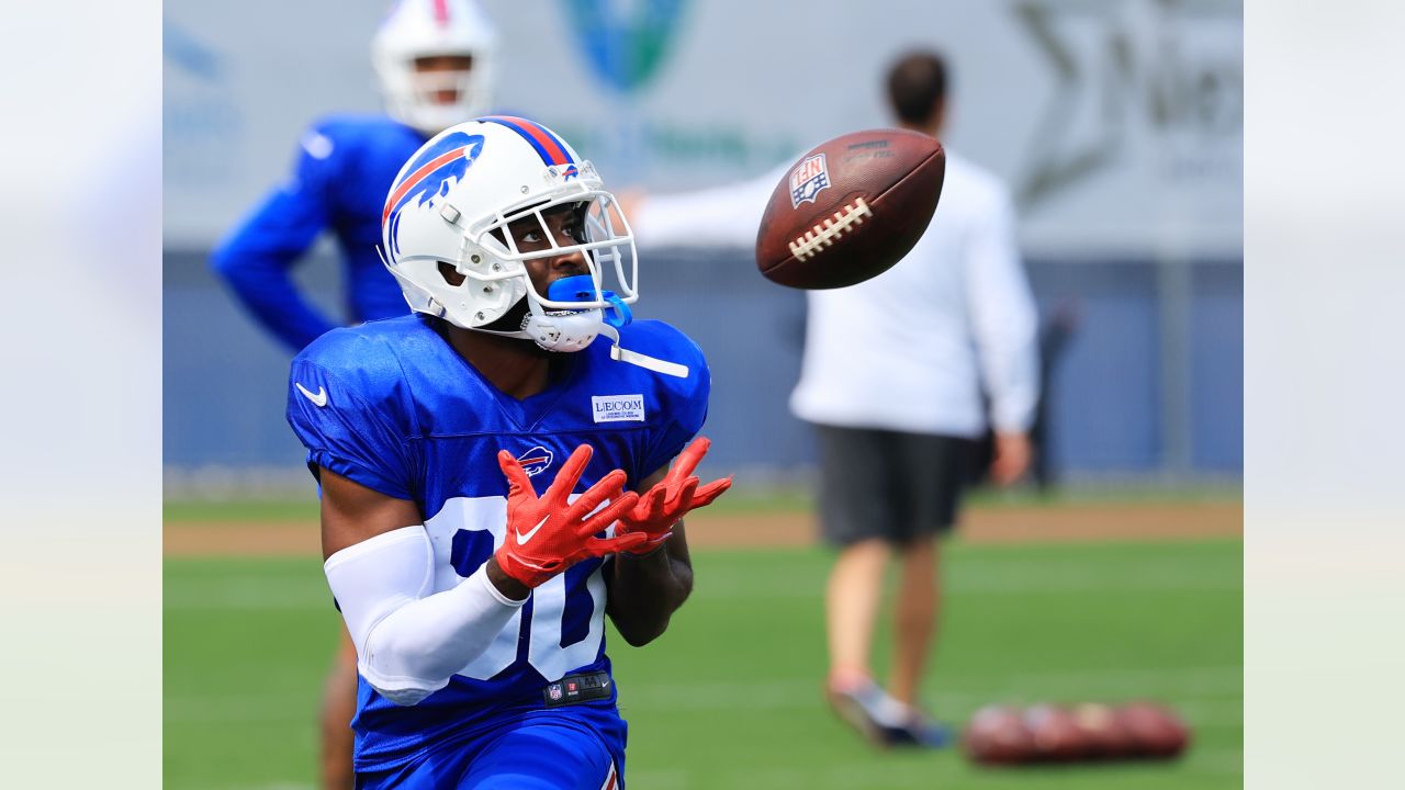
{"label": "blue number 80 jersey on the player catching the ball", "polygon": [[[466,579],[503,541],[507,481],[499,450],[521,461],[538,493],[584,443],[594,457],[576,493],[615,468],[636,486],[666,467],[707,416],[702,353],[666,323],[625,326],[621,342],[688,365],[687,378],[611,360],[601,340],[561,354],[556,380],[523,401],[459,357],[441,336],[444,326],[416,313],[333,330],[298,354],[288,385],[288,422],[313,471],[325,467],[419,506],[434,545],[434,592]],[[538,586],[486,652],[419,704],[398,707],[362,680],[353,721],[357,770],[386,770],[504,717],[541,713],[549,682],[608,672],[604,609],[603,562],[589,559]],[[579,717],[622,751],[613,694],[552,710]]]}

